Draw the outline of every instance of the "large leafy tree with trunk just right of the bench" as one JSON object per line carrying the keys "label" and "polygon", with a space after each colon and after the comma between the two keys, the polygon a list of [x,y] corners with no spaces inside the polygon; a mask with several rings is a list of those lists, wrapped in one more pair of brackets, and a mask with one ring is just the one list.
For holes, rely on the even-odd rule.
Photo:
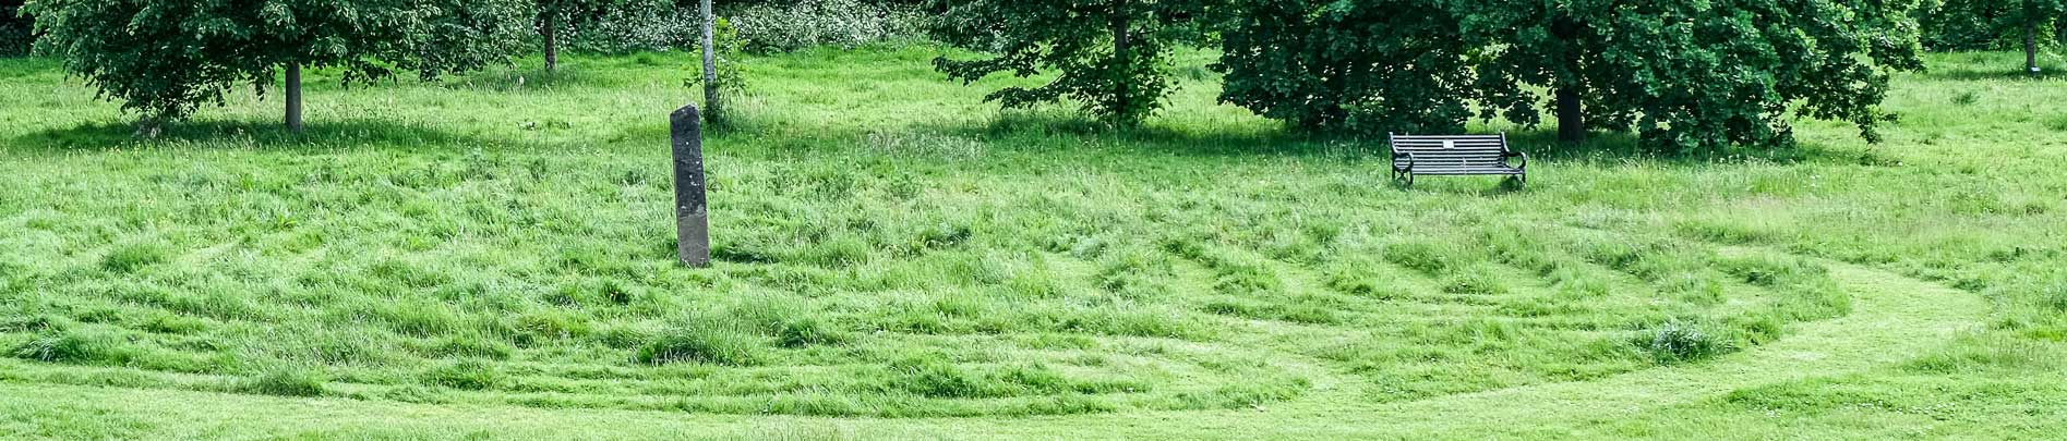
{"label": "large leafy tree with trunk just right of the bench", "polygon": [[[1792,142],[1788,120],[1879,140],[1893,70],[1920,70],[1912,2],[1478,0],[1459,10],[1482,117],[1559,136],[1635,130],[1697,150]],[[1532,89],[1548,89],[1540,99]]]}

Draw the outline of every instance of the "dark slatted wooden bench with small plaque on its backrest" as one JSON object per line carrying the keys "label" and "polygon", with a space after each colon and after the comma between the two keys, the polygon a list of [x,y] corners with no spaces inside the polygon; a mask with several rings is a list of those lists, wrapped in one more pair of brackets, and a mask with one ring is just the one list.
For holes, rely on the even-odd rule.
{"label": "dark slatted wooden bench with small plaque on its backrest", "polygon": [[[1414,185],[1414,175],[1505,175],[1530,181],[1530,155],[1507,148],[1507,134],[1414,136],[1391,134],[1393,179]],[[1519,163],[1509,163],[1519,159]]]}

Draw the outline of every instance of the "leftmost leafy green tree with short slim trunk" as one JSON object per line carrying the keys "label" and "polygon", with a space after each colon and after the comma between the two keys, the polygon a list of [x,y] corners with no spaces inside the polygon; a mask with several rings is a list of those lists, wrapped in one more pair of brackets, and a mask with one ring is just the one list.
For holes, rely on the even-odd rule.
{"label": "leftmost leafy green tree with short slim trunk", "polygon": [[182,120],[250,82],[260,95],[285,70],[287,128],[300,130],[302,68],[337,68],[345,84],[506,62],[523,0],[37,0],[48,54],[87,78],[138,128]]}

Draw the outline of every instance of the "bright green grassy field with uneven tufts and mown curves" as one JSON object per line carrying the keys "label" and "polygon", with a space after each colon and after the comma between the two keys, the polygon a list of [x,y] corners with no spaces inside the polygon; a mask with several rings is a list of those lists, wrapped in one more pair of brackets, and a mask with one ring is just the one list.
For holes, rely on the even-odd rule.
{"label": "bright green grassy field with uneven tufts and mown curves", "polygon": [[[0,437],[2055,437],[2067,80],[1898,76],[1885,144],[1528,188],[1215,105],[1007,111],[932,47],[750,60],[672,260],[690,58],[236,97],[161,140],[0,60]],[[2007,66],[2007,68],[2005,68]],[[2059,68],[2057,68],[2059,70]]]}

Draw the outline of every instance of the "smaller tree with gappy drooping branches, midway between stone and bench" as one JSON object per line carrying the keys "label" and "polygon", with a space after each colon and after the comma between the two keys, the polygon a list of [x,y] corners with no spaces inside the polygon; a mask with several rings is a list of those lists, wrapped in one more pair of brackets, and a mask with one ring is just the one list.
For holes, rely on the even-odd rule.
{"label": "smaller tree with gappy drooping branches, midway between stone and bench", "polygon": [[990,41],[996,56],[934,60],[963,84],[1011,72],[1056,72],[1042,87],[990,93],[1007,109],[1075,99],[1100,120],[1135,126],[1170,93],[1168,64],[1174,25],[1195,14],[1195,0],[971,0],[949,10],[951,41]]}

